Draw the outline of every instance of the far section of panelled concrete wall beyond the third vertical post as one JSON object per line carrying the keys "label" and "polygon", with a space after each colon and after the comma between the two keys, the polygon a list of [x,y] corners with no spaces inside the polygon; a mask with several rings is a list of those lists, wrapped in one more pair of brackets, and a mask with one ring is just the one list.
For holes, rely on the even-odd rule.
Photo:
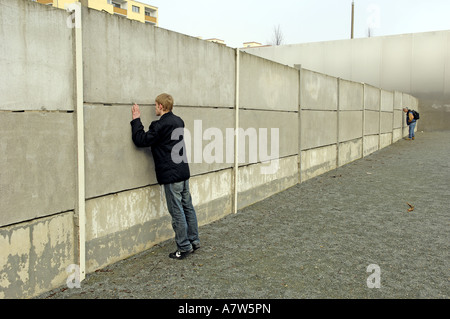
{"label": "far section of panelled concrete wall beyond the third vertical post", "polygon": [[413,96],[304,68],[300,75],[301,181],[408,135],[402,108],[418,109]]}

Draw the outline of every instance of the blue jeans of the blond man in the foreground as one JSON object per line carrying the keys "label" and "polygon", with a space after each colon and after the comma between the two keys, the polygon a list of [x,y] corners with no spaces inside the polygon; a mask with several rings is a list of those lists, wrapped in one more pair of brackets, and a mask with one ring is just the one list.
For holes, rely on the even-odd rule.
{"label": "blue jeans of the blond man in the foreground", "polygon": [[181,252],[190,251],[192,244],[200,244],[198,237],[197,214],[192,205],[189,180],[164,184],[167,209],[172,216],[175,242]]}

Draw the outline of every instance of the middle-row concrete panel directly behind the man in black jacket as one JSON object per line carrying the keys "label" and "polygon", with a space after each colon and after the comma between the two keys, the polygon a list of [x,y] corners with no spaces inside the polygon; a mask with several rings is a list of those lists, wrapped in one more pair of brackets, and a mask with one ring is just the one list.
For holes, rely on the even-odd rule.
{"label": "middle-row concrete panel directly behind the man in black jacket", "polygon": [[[131,140],[130,110],[131,105],[85,105],[87,198],[157,183],[150,148],[137,148]],[[232,166],[234,140],[231,138],[227,147],[226,129],[234,126],[234,110],[175,106],[173,112],[185,122],[191,176]],[[157,119],[153,105],[141,105],[145,131]],[[215,136],[207,140],[211,129],[214,134],[222,134],[223,139]],[[217,163],[208,163],[209,158],[204,155],[216,155],[214,150],[208,151],[208,145],[220,148],[220,144],[222,155],[218,155]],[[227,156],[231,158],[229,162]]]}

